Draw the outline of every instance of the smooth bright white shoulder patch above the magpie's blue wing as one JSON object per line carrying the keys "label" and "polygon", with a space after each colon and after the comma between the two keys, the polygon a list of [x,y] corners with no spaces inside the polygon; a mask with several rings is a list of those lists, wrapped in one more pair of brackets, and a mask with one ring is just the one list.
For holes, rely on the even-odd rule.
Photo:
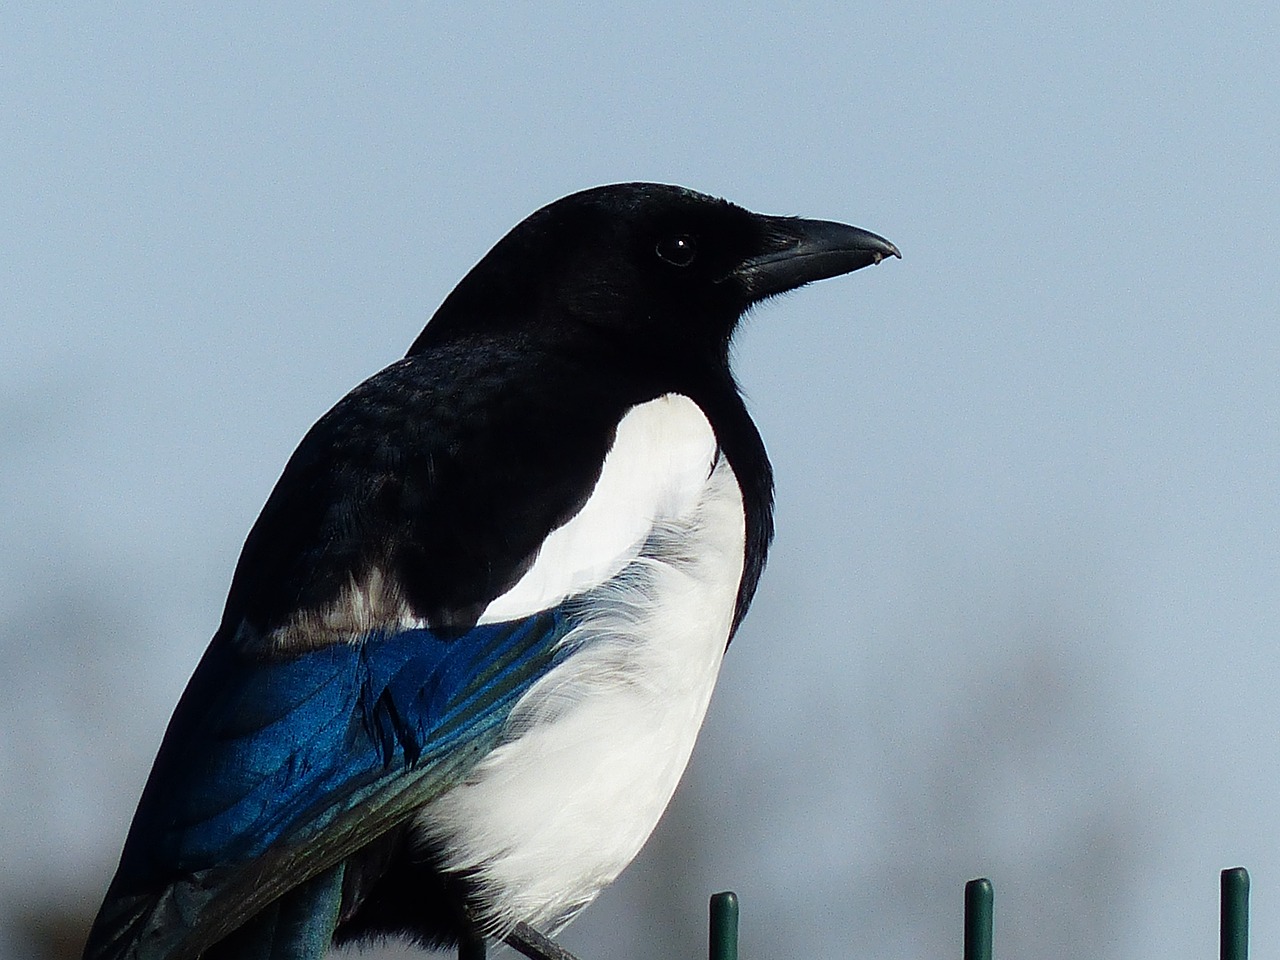
{"label": "smooth bright white shoulder patch above the magpie's blue wing", "polygon": [[545,611],[616,576],[655,524],[694,509],[714,463],[716,434],[689,397],[668,393],[628,410],[582,509],[552,531],[534,566],[480,622]]}

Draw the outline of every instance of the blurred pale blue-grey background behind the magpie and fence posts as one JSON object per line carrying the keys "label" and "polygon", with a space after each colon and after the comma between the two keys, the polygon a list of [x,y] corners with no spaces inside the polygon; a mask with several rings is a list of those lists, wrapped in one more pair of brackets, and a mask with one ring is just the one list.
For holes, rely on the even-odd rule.
{"label": "blurred pale blue-grey background behind the magpie and fence posts", "polygon": [[[1280,945],[1280,8],[0,8],[0,957],[78,956],[293,445],[534,209],[902,261],[758,310],[778,536],[584,957]],[[388,947],[367,956],[410,956]]]}

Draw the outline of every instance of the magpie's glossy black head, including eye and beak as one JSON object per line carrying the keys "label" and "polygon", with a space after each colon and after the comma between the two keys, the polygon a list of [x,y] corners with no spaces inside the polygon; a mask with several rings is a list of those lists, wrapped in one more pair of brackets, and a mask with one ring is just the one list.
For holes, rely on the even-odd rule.
{"label": "magpie's glossy black head, including eye and beak", "polygon": [[763,216],[682,187],[618,183],[529,216],[466,275],[410,353],[467,337],[568,337],[723,357],[742,312],[899,256],[845,224]]}

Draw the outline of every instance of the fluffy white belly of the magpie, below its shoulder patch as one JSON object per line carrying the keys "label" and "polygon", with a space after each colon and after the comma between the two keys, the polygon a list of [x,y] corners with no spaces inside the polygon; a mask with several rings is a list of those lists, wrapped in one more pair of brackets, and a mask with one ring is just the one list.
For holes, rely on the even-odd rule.
{"label": "fluffy white belly of the magpie, below its shoulder patch", "polygon": [[488,933],[572,919],[631,863],[680,782],[742,576],[741,492],[712,458],[639,556],[571,600],[572,653],[516,704],[508,739],[417,815],[447,869],[477,881]]}

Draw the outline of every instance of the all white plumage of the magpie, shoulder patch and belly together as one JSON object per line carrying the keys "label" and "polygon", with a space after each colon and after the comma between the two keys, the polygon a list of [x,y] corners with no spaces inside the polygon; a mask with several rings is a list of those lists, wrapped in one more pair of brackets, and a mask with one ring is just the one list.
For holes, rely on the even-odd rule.
{"label": "all white plumage of the magpie, shoulder patch and belly together", "polygon": [[[557,532],[579,552],[544,548],[485,616],[575,596],[572,653],[517,703],[509,739],[416,820],[448,869],[476,877],[490,933],[554,932],[640,851],[689,763],[742,576],[737,479],[685,397],[627,413]],[[556,562],[539,571],[544,557]]]}

